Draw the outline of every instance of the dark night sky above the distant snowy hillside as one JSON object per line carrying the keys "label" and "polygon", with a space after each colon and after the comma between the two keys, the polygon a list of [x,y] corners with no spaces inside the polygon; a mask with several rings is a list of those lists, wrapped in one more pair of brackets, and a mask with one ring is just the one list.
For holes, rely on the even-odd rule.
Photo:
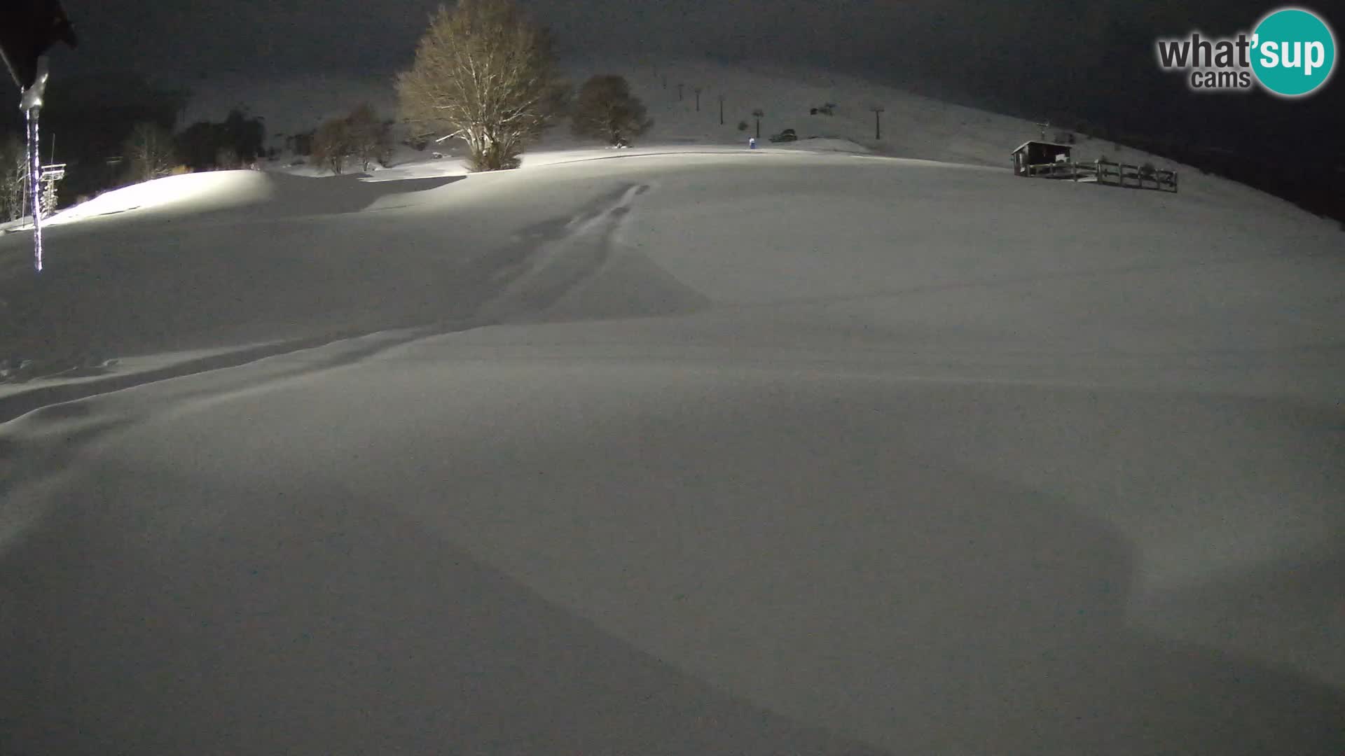
{"label": "dark night sky above the distant snowy hillside", "polygon": [[[81,35],[62,70],[391,73],[409,63],[437,0],[63,0]],[[1197,96],[1157,70],[1155,36],[1248,30],[1254,0],[521,0],[562,52],[713,55],[857,73],[1030,116],[1049,104],[1192,143],[1340,156],[1345,78],[1314,97]],[[1329,22],[1345,9],[1321,4]],[[1313,8],[1313,3],[1306,4]],[[1338,16],[1338,17],[1333,17]],[[1340,36],[1340,30],[1337,30]],[[1336,157],[1340,159],[1340,157]]]}

